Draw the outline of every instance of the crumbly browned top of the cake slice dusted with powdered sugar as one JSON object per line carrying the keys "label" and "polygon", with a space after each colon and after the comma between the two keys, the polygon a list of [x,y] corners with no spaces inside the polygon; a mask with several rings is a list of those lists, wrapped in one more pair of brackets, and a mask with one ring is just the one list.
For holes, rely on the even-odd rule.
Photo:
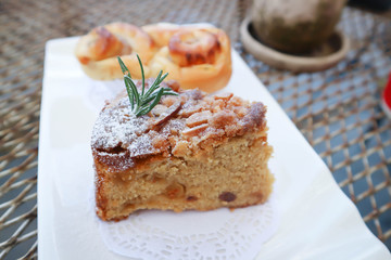
{"label": "crumbly browned top of the cake slice dusted with powdered sugar", "polygon": [[[147,80],[150,86],[153,80]],[[140,86],[138,86],[140,88]],[[266,107],[231,93],[207,95],[181,90],[175,81],[163,82],[178,95],[163,96],[147,115],[136,117],[126,92],[108,102],[100,113],[91,146],[96,156],[113,170],[126,170],[137,160],[197,156],[226,142],[266,128]],[[148,87],[147,87],[148,88]]]}

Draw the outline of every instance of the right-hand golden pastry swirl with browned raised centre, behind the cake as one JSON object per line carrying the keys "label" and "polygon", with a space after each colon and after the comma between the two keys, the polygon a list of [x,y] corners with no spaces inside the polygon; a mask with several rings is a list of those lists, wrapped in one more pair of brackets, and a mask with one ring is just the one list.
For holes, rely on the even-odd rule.
{"label": "right-hand golden pastry swirl with browned raised centre, behind the cake", "polygon": [[214,92],[231,76],[230,41],[212,26],[154,24],[142,27],[161,49],[148,66],[151,75],[168,72],[184,89]]}

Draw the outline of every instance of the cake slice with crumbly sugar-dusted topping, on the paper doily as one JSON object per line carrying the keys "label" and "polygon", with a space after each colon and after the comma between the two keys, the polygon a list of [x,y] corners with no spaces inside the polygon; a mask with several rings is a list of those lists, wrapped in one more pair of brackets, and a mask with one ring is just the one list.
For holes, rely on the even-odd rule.
{"label": "cake slice with crumbly sugar-dusted topping, on the paper doily", "polygon": [[163,96],[148,115],[136,117],[124,92],[97,119],[91,147],[98,216],[119,220],[139,209],[265,203],[274,181],[266,107],[230,93],[163,84],[179,95]]}

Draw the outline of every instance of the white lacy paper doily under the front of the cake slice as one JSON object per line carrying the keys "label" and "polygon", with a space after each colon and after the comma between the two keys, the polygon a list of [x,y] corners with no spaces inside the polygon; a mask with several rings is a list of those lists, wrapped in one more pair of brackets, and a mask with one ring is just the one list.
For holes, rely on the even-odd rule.
{"label": "white lacy paper doily under the front of the cake slice", "polygon": [[277,231],[275,202],[230,211],[144,210],[119,222],[97,218],[108,248],[137,259],[254,259]]}

